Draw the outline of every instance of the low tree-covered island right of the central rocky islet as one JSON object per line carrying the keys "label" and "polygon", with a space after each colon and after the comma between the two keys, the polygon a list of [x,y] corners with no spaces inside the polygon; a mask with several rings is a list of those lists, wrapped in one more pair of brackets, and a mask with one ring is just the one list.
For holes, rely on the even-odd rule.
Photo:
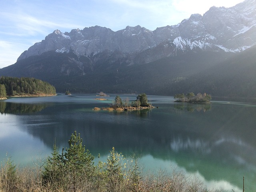
{"label": "low tree-covered island right of the central rocky islet", "polygon": [[212,99],[211,95],[209,94],[194,94],[193,92],[189,92],[188,94],[184,95],[182,94],[176,94],[174,95],[174,102],[189,102],[189,103],[210,103],[210,100]]}

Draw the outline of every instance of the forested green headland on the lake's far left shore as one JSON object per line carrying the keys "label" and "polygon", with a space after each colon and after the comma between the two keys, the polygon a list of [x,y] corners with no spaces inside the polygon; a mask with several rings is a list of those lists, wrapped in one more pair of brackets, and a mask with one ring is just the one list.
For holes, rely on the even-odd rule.
{"label": "forested green headland on the lake's far left shore", "polygon": [[[36,78],[2,76],[0,78],[0,84],[5,86],[7,96],[47,96],[56,94],[54,86]],[[3,87],[0,86],[0,92],[2,88]]]}

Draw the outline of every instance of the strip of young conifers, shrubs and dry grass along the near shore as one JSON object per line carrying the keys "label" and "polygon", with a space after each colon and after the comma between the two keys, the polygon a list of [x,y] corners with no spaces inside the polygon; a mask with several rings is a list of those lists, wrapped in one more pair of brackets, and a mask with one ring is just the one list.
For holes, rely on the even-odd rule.
{"label": "strip of young conifers, shrubs and dry grass along the near shore", "polygon": [[72,134],[69,148],[59,154],[56,144],[43,166],[17,168],[10,158],[1,164],[0,192],[217,192],[182,171],[143,174],[136,155],[126,159],[113,147],[106,162],[94,157]]}

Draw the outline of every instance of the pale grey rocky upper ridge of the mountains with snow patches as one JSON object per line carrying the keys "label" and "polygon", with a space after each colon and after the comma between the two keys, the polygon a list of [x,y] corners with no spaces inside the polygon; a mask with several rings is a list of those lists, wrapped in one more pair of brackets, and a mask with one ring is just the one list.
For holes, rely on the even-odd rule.
{"label": "pale grey rocky upper ridge of the mountains with snow patches", "polygon": [[154,31],[140,25],[127,26],[116,32],[101,26],[73,29],[65,33],[57,29],[23,52],[18,60],[50,50],[72,51],[77,56],[92,56],[104,50],[137,54],[160,47],[158,45],[165,42],[172,42],[172,46],[175,46],[171,52],[245,50],[256,44],[256,0],[245,0],[231,8],[213,6],[203,16],[192,14],[180,24],[156,28]]}

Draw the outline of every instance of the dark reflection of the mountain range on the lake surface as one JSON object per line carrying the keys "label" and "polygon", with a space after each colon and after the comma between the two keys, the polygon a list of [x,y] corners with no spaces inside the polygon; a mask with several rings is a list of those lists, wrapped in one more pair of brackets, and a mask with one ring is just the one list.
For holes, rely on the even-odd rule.
{"label": "dark reflection of the mountain range on the lake surface", "polygon": [[247,190],[256,187],[256,107],[220,103],[157,105],[159,108],[148,111],[95,112],[92,108],[106,103],[52,104],[34,115],[16,116],[15,126],[49,149],[55,139],[60,148],[66,147],[76,130],[94,156],[107,156],[114,146],[122,154],[140,153],[145,164],[147,158],[160,165],[175,162],[206,181],[223,180],[235,186],[241,186],[245,176]]}

